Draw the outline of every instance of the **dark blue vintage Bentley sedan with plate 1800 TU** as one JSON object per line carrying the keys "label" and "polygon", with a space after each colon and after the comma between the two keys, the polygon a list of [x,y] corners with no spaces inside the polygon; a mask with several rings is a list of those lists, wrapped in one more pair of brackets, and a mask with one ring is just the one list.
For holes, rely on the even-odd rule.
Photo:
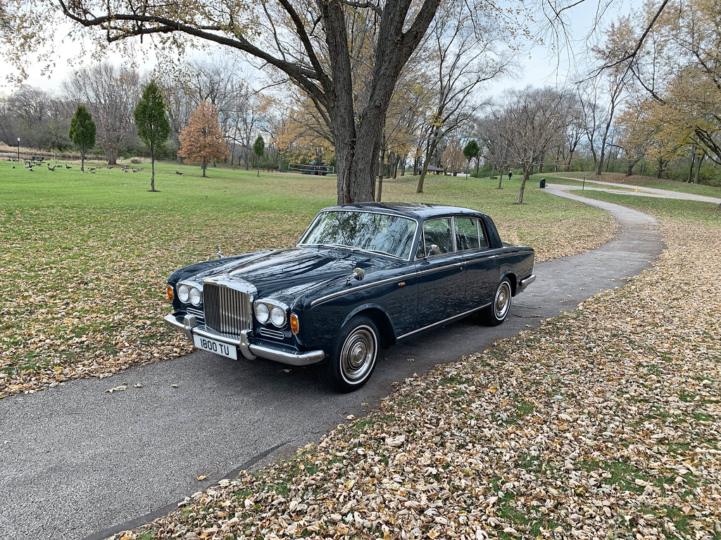
{"label": "dark blue vintage Bentley sedan with plate 1800 TU", "polygon": [[165,320],[205,351],[320,364],[322,379],[350,391],[380,348],[476,312],[503,323],[533,265],[534,250],[502,243],[482,212],[348,204],[319,212],[293,248],[175,271]]}

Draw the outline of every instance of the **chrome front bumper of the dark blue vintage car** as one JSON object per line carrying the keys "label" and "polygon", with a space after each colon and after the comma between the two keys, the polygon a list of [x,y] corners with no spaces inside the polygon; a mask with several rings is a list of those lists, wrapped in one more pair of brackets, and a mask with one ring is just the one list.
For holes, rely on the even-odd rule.
{"label": "chrome front bumper of the dark blue vintage car", "polygon": [[242,330],[238,337],[221,334],[195,323],[193,315],[186,316],[184,320],[180,320],[171,313],[170,315],[166,315],[164,320],[173,328],[182,330],[190,341],[193,341],[193,336],[202,336],[204,338],[221,341],[231,347],[235,347],[240,354],[249,360],[255,360],[257,356],[260,356],[261,358],[280,362],[280,364],[288,364],[289,366],[310,366],[311,364],[318,364],[325,358],[324,351],[307,351],[301,353],[287,351],[280,347],[253,343],[251,330]]}

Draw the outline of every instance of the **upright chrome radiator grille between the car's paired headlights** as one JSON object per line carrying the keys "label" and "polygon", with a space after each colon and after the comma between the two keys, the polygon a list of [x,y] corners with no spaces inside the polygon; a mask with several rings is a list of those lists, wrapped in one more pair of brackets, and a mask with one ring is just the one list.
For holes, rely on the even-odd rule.
{"label": "upright chrome radiator grille between the car's paired headlights", "polygon": [[239,334],[252,328],[250,295],[224,287],[203,285],[205,326],[224,334]]}

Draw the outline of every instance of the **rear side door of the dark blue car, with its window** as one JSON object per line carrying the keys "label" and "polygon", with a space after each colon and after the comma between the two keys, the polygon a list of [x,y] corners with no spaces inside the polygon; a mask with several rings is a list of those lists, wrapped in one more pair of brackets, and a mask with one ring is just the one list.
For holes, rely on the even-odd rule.
{"label": "rear side door of the dark blue car, with its window", "polygon": [[466,277],[464,311],[491,302],[498,283],[498,259],[490,249],[483,221],[477,217],[454,217],[456,246],[463,255]]}

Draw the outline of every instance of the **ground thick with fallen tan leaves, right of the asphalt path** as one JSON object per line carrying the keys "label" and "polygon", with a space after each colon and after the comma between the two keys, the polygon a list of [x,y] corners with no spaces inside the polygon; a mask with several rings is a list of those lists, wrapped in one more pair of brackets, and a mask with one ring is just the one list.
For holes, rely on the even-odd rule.
{"label": "ground thick with fallen tan leaves, right of the asphalt path", "polygon": [[721,227],[116,538],[721,538]]}

